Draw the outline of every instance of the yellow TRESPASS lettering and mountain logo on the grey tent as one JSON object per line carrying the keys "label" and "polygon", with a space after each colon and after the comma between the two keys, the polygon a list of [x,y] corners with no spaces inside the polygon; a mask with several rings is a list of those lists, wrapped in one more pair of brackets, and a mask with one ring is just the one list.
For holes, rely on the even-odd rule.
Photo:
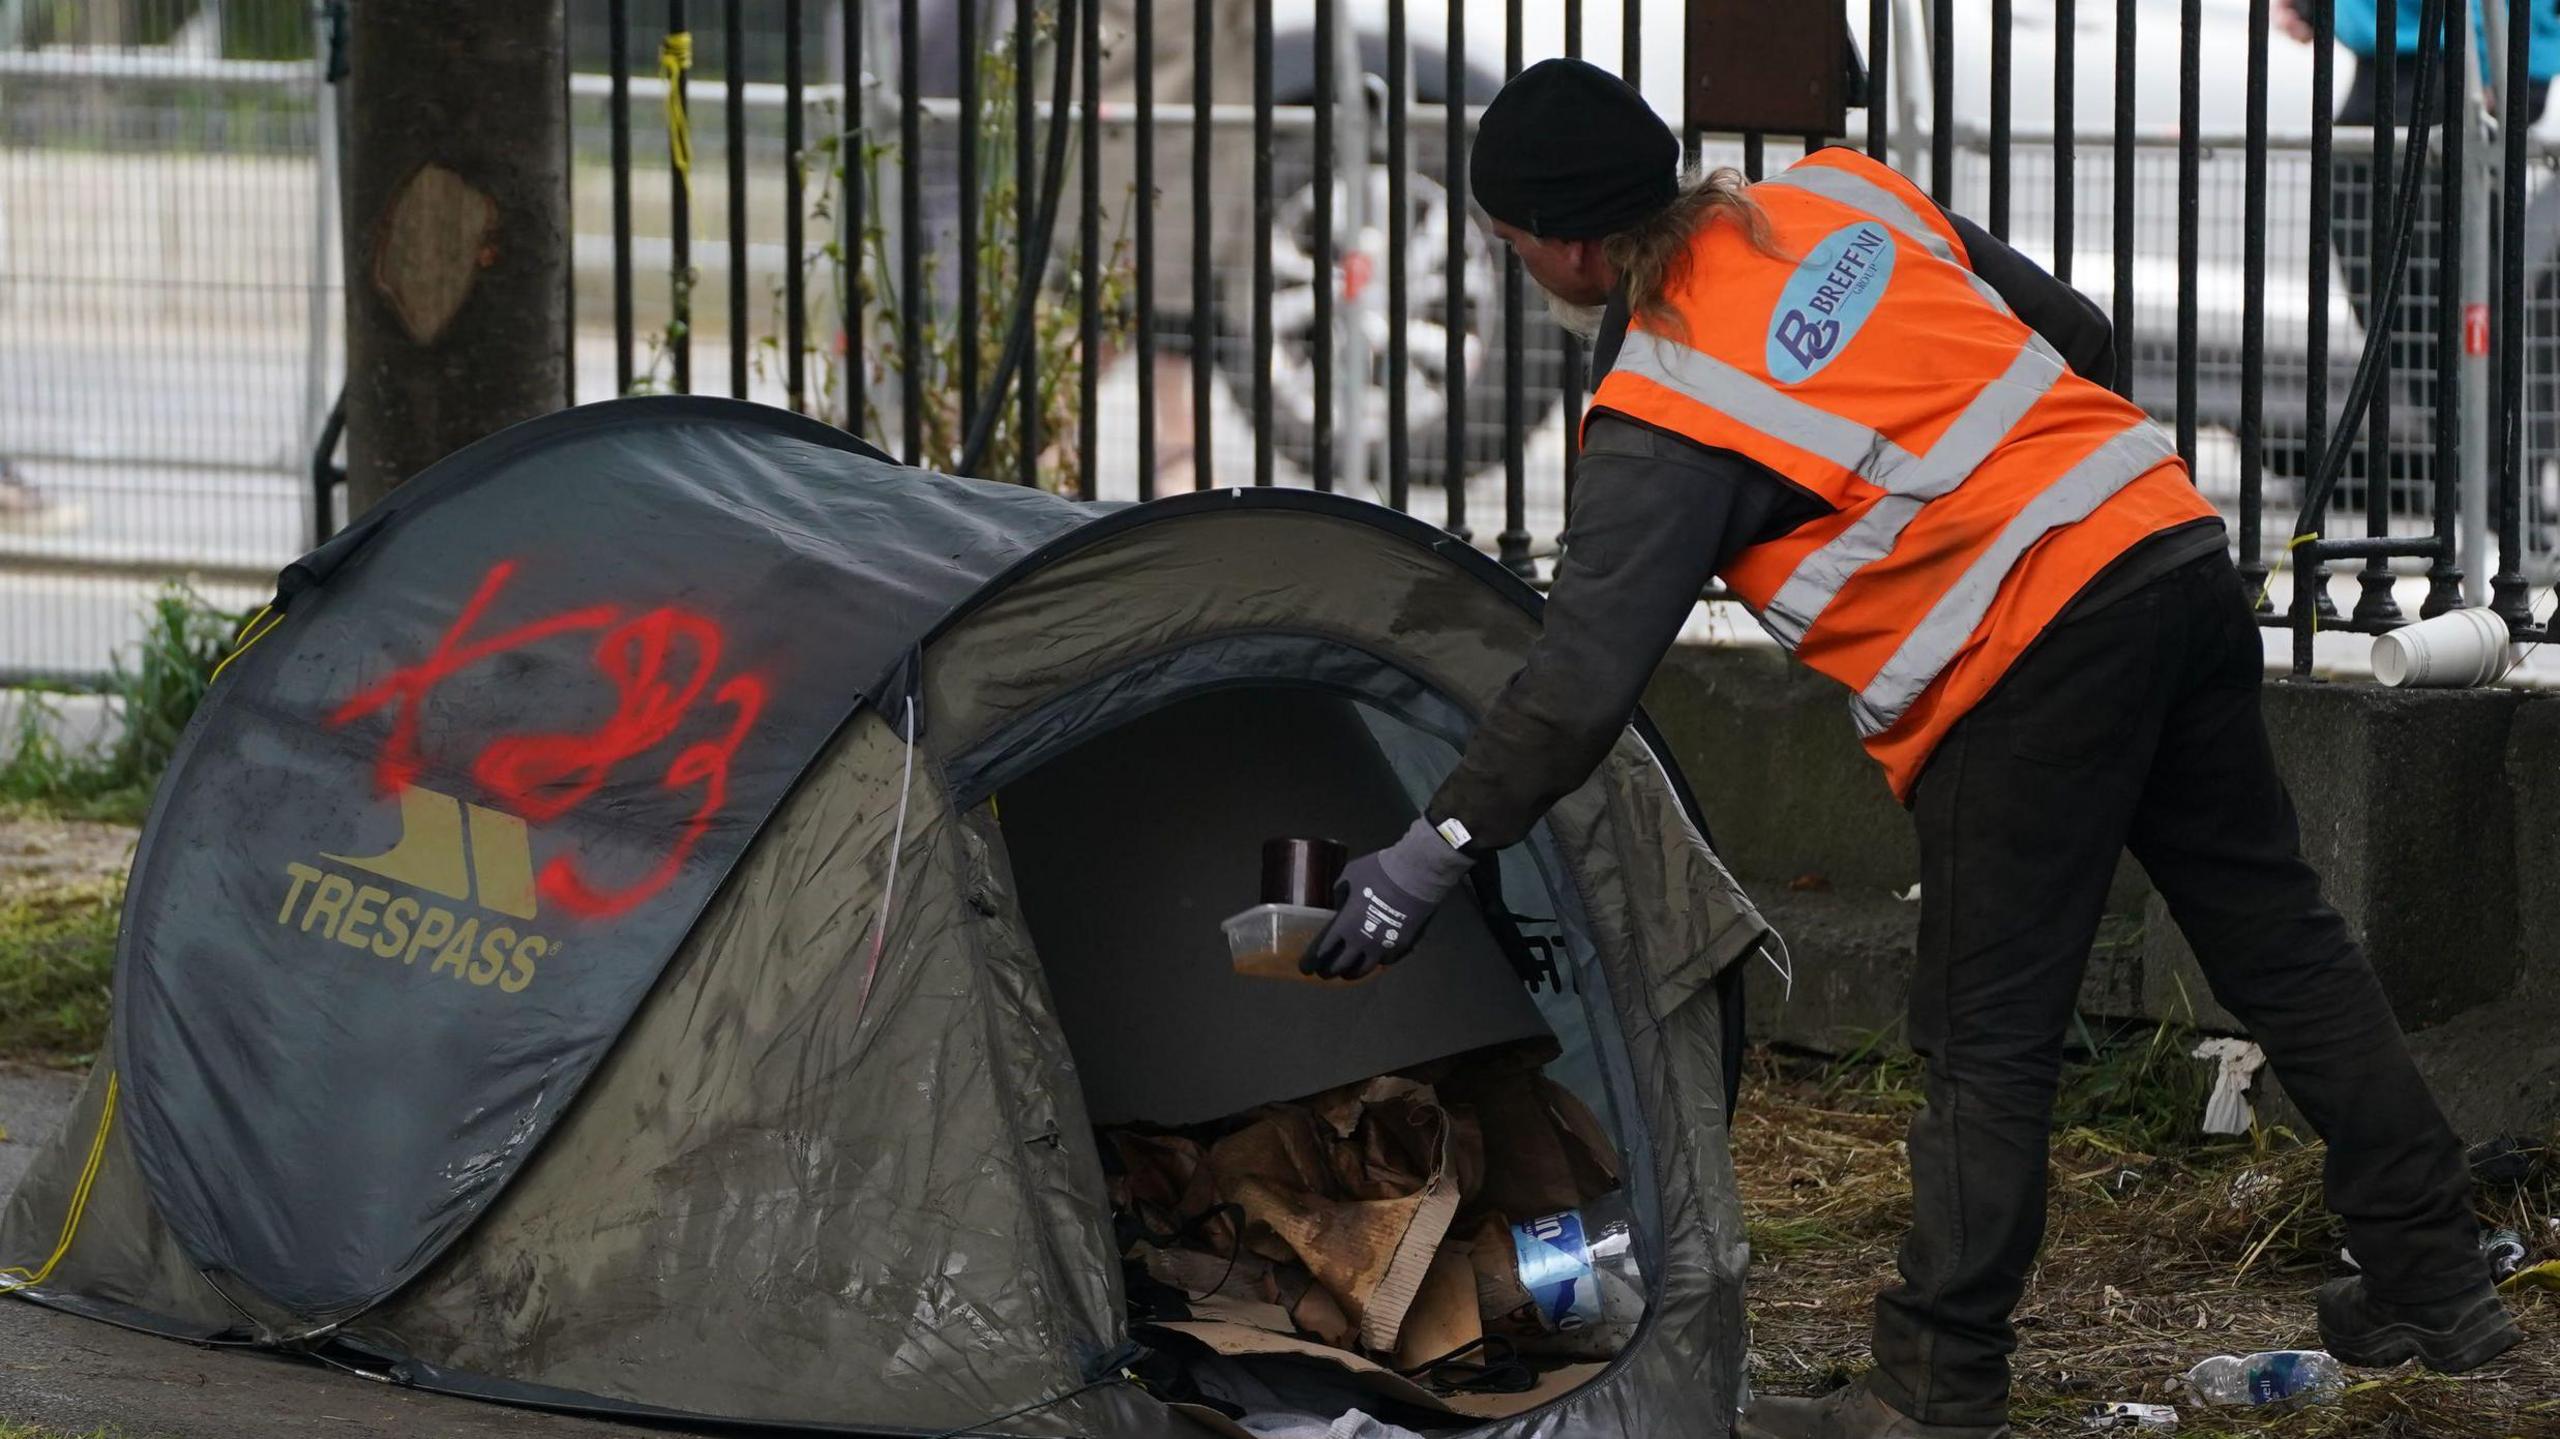
{"label": "yellow TRESPASS lettering and mountain logo on the grey tent", "polygon": [[[451,794],[407,786],[399,791],[399,842],[379,855],[320,855],[323,863],[415,888],[492,917],[532,919],[532,840],[525,822],[499,809],[463,804]],[[479,914],[456,914],[412,894],[392,894],[343,873],[300,860],[284,865],[284,906],[276,924],[305,935],[320,932],[351,950],[415,965],[433,958],[428,973],[453,973],[474,986],[522,993],[535,963],[558,955],[561,945],[512,924],[481,927]]]}

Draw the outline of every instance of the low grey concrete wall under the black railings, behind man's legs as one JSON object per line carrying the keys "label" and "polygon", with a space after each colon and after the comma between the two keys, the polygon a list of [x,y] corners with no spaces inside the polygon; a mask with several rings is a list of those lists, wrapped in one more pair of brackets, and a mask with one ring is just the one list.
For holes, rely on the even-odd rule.
{"label": "low grey concrete wall under the black railings, behind man's legs", "polygon": [[[1894,1029],[1917,850],[1841,691],[1764,648],[1682,645],[1646,709],[1795,958],[1792,999],[1754,965],[1754,1037],[1843,1052]],[[2560,696],[2271,684],[2266,714],[2304,853],[2455,1124],[2560,1127]],[[2240,1029],[2130,860],[2081,1006]]]}

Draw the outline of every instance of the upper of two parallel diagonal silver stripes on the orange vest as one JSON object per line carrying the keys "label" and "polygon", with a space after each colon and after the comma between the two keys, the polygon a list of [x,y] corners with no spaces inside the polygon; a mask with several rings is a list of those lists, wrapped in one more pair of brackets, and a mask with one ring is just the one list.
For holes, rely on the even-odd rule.
{"label": "upper of two parallel diagonal silver stripes on the orange vest", "polygon": [[1861,568],[1892,553],[1894,540],[1920,515],[1920,507],[1964,484],[1969,474],[1992,458],[1992,451],[2010,438],[2010,430],[2028,417],[2063,376],[2063,356],[2043,335],[2028,343],[2010,361],[2010,369],[1974,392],[1964,415],[1938,435],[1938,443],[1917,463],[1894,474],[1892,494],[1876,499],[1856,525],[1833,535],[1823,548],[1805,556],[1777,597],[1761,625],[1789,650],[1805,640],[1805,630],[1841,597],[1841,586]]}

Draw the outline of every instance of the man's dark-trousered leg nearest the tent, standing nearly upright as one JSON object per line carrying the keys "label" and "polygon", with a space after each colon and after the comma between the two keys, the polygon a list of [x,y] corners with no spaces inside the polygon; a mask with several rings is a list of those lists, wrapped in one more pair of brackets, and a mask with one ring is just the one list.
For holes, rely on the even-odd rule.
{"label": "man's dark-trousered leg nearest the tent, standing nearly upright", "polygon": [[2158,727],[2156,609],[2143,589],[2051,630],[1920,776],[1910,1045],[1928,1106],[1869,1385],[1928,1424],[2007,1419],[2063,1034]]}

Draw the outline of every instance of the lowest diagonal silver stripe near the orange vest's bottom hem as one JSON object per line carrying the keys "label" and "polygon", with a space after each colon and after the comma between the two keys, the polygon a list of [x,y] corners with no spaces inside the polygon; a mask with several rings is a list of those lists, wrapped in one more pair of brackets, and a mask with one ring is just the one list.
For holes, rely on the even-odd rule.
{"label": "lowest diagonal silver stripe near the orange vest's bottom hem", "polygon": [[1974,563],[1966,566],[1956,586],[1940,594],[1928,617],[1902,638],[1902,648],[1894,650],[1894,658],[1884,661],[1876,679],[1848,702],[1851,714],[1859,720],[1859,732],[1879,735],[1889,730],[1894,720],[1902,720],[1912,699],[1920,699],[1920,691],[1946,666],[1956,663],[1956,653],[1981,627],[1981,617],[1992,612],[1992,602],[2010,579],[2010,568],[2017,566],[2017,556],[2028,553],[2048,530],[2086,520],[2115,492],[2173,456],[2176,446],[2168,443],[2168,435],[2158,425],[2148,420],[2135,422],[2117,438],[2089,451],[2086,458],[2066,469],[2061,479],[2012,515],[1999,535],[1974,556]]}

